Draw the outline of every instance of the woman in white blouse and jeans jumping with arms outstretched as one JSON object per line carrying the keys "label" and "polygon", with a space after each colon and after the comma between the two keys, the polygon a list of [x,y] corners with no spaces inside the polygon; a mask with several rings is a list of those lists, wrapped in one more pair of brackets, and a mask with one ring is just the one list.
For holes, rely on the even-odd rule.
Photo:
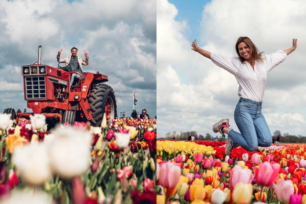
{"label": "woman in white blouse and jeans jumping with arms outstretched", "polygon": [[240,133],[229,128],[228,119],[221,119],[213,125],[213,131],[222,135],[226,133],[230,140],[225,146],[225,155],[238,145],[248,151],[255,151],[258,146],[267,147],[272,143],[272,136],[267,122],[261,112],[262,99],[267,81],[267,73],[283,62],[287,55],[297,46],[297,40],[292,40],[292,47],[278,50],[271,55],[259,53],[257,47],[248,37],[240,37],[236,43],[238,57],[228,58],[210,53],[192,42],[195,52],[211,59],[217,66],[235,75],[239,84],[239,101],[234,118]]}

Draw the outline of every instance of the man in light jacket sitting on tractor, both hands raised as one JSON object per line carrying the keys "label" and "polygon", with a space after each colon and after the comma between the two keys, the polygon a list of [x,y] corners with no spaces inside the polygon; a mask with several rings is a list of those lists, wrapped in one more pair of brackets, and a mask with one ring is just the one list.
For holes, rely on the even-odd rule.
{"label": "man in light jacket sitting on tractor, both hands raised", "polygon": [[[61,59],[61,53],[63,51],[63,48],[61,48],[57,55],[57,61],[58,62],[65,62],[66,71],[75,71],[81,74],[82,79],[84,81],[85,75],[82,69],[82,65],[88,65],[88,53],[86,50],[84,50],[84,54],[86,57],[86,61],[84,61],[82,58],[77,56],[78,48],[72,47],[71,48],[71,56],[68,56],[64,59]],[[80,80],[79,74],[72,73],[71,74],[71,80],[70,80],[70,87],[77,83],[77,81]]]}

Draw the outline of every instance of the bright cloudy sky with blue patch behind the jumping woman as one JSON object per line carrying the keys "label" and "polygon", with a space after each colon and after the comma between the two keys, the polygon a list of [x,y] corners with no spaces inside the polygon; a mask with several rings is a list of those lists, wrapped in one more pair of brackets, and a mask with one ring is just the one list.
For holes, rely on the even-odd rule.
{"label": "bright cloudy sky with blue patch behind the jumping woman", "polygon": [[157,1],[158,137],[176,131],[205,135],[221,118],[234,130],[238,83],[231,73],[191,50],[198,46],[237,57],[235,44],[248,36],[260,52],[292,46],[295,52],[268,73],[263,114],[273,134],[306,135],[306,2],[296,1]]}

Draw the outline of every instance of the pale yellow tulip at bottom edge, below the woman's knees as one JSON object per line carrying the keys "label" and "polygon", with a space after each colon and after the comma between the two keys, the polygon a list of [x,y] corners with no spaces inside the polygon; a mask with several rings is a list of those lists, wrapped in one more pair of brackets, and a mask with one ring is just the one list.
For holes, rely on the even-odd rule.
{"label": "pale yellow tulip at bottom edge, below the woman's knees", "polygon": [[249,203],[251,201],[252,194],[253,189],[251,184],[239,182],[238,184],[236,184],[232,193],[233,201],[234,203]]}

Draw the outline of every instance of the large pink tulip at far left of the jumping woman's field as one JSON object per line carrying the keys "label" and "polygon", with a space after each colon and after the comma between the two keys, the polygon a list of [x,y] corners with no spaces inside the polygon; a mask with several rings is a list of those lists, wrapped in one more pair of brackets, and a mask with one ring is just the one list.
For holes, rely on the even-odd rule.
{"label": "large pink tulip at far left of the jumping woman's field", "polygon": [[164,188],[174,188],[179,182],[181,168],[171,162],[163,163],[159,170],[159,183]]}

